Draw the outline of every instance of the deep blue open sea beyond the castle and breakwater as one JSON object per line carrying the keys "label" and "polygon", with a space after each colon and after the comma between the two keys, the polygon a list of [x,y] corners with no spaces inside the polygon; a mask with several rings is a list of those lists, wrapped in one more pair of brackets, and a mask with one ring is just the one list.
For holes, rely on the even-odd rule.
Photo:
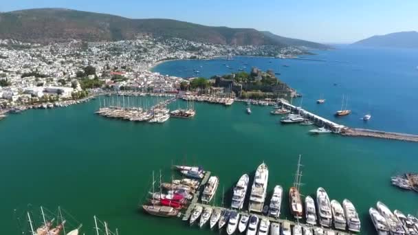
{"label": "deep blue open sea beyond the castle and breakwater", "polygon": [[[327,61],[255,57],[235,57],[228,61],[177,60],[158,65],[154,71],[190,77],[197,76],[193,69],[198,69],[199,76],[210,78],[237,69],[250,71],[251,67],[274,69],[281,73],[278,76],[281,80],[303,94],[302,106],[309,111],[348,126],[418,134],[414,119],[418,115],[418,50],[337,48],[318,51],[316,56],[303,56]],[[353,113],[334,117],[341,109],[343,95],[348,98],[347,109]],[[316,104],[320,97],[326,99],[325,104]],[[296,105],[300,102],[294,100]],[[371,122],[364,123],[360,119],[369,112]]]}

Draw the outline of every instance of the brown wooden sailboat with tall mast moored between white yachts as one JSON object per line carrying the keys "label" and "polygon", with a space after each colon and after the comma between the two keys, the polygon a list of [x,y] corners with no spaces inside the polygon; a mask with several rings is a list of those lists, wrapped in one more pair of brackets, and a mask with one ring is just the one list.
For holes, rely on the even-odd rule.
{"label": "brown wooden sailboat with tall mast moored between white yachts", "polygon": [[300,157],[298,160],[298,168],[296,170],[294,186],[289,190],[289,203],[290,211],[294,215],[295,219],[302,219],[303,216],[303,205],[300,199],[300,179],[302,178],[302,172],[300,171]]}

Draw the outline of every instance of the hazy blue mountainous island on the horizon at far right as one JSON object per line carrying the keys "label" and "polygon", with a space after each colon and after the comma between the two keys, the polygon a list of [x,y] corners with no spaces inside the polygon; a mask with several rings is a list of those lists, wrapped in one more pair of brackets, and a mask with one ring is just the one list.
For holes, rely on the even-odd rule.
{"label": "hazy blue mountainous island on the horizon at far right", "polygon": [[418,32],[395,32],[386,35],[376,35],[353,43],[352,45],[362,45],[367,47],[418,48]]}

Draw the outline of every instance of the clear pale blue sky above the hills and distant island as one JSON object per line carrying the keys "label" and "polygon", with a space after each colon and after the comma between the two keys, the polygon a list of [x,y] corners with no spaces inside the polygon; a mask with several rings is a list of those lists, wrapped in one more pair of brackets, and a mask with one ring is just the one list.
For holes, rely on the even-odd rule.
{"label": "clear pale blue sky above the hills and distant island", "polygon": [[418,31],[418,0],[3,0],[0,11],[71,8],[129,18],[252,27],[321,43]]}

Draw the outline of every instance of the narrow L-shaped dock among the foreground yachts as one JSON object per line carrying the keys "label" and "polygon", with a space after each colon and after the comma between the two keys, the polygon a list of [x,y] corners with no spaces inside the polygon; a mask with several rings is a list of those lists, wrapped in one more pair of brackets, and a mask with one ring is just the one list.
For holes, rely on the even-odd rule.
{"label": "narrow L-shaped dock among the foreground yachts", "polygon": [[[205,184],[208,182],[208,179],[210,177],[210,171],[205,172],[205,175],[199,185],[199,190],[197,190],[197,192],[193,195],[192,201],[190,201],[190,205],[188,205],[188,208],[186,209],[186,212],[184,212],[183,218],[181,219],[182,221],[188,221],[190,219],[190,215],[192,214],[192,211],[195,209],[195,207],[197,205],[202,206],[203,208],[212,208],[212,209],[220,209],[220,210],[230,210],[230,211],[235,211],[241,215],[243,214],[247,214],[247,215],[252,215],[254,213],[249,213],[247,211],[243,211],[243,210],[234,210],[231,208],[222,208],[222,207],[218,207],[218,206],[214,206],[214,205],[208,205],[208,204],[202,204],[199,203],[199,197],[200,197],[200,192],[203,189],[203,187],[205,186]],[[318,226],[312,226],[312,225],[307,225],[305,223],[298,223],[298,221],[289,221],[287,219],[278,219],[278,218],[274,218],[274,217],[270,217],[270,216],[264,216],[262,214],[254,214],[257,217],[259,217],[259,219],[267,219],[270,222],[274,222],[274,223],[281,223],[281,225],[283,225],[283,223],[289,223],[289,225],[294,226],[299,224],[301,227],[310,227],[315,229]],[[344,232],[344,231],[340,231],[340,230],[333,230],[331,228],[325,228],[325,227],[321,227],[322,230],[324,231],[333,231],[335,234],[340,234],[340,235],[348,235],[350,234],[349,232]]]}

